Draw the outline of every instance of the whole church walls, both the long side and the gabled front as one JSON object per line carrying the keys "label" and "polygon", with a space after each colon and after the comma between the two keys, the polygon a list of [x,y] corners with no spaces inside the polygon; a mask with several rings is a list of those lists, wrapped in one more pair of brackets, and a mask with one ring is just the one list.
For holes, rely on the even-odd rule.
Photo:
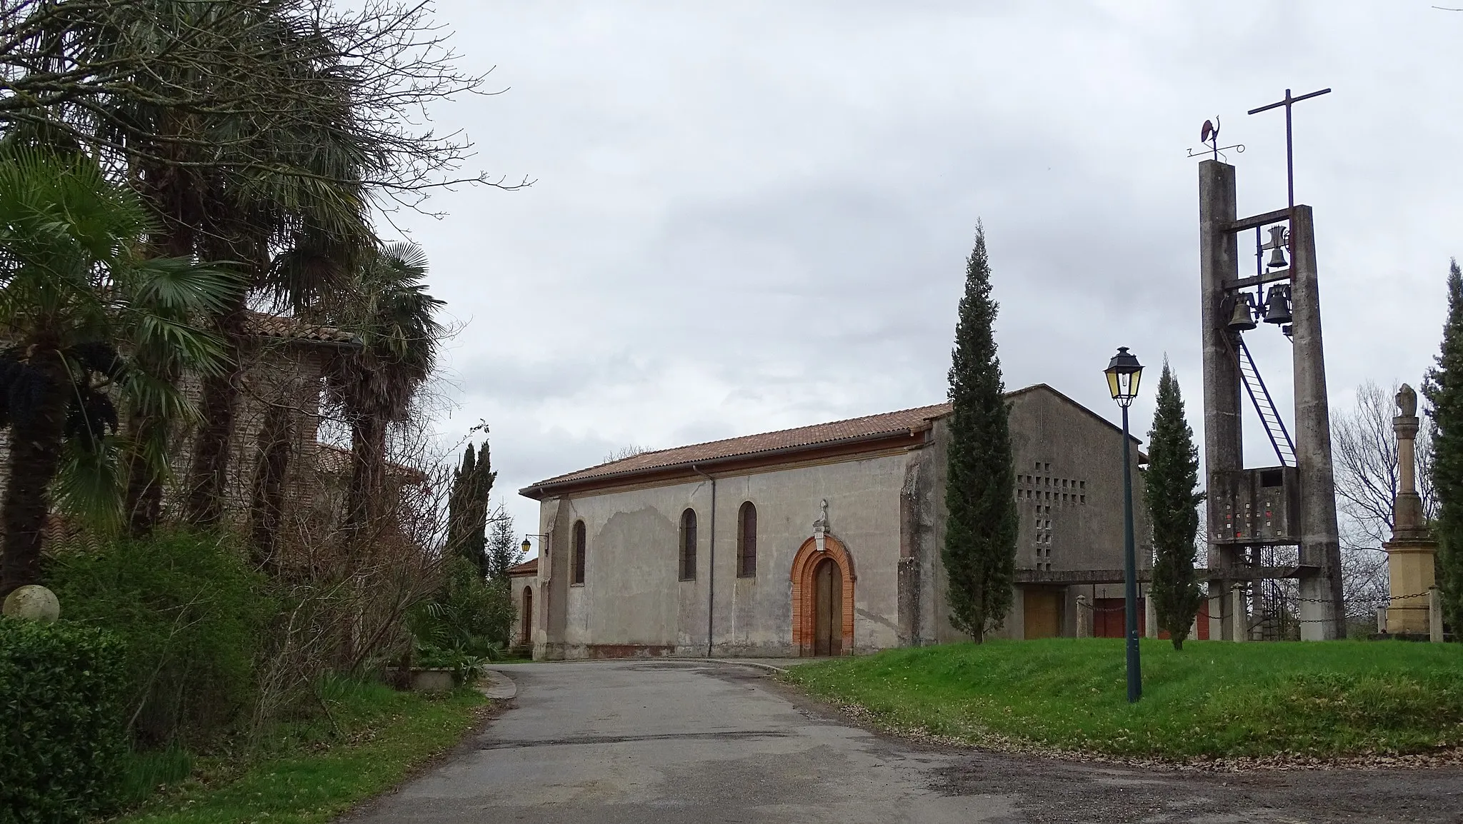
{"label": "whole church walls, both the long side and the gabled front", "polygon": [[[1075,635],[1077,596],[1112,597],[1121,587],[1074,584],[1122,569],[1121,436],[1105,419],[1049,386],[1012,392],[1011,443],[1017,493],[1012,607],[995,638],[1043,631]],[[941,550],[945,540],[948,419],[925,445],[819,464],[717,479],[712,656],[796,656],[791,565],[828,501],[830,533],[846,544],[856,575],[853,651],[966,640],[949,622]],[[1150,566],[1151,530],[1134,443],[1135,537]],[[758,509],[758,574],[736,577],[736,517]],[[696,580],[680,581],[679,524],[696,512]],[[584,520],[585,583],[569,585],[571,536]],[[625,486],[541,505],[550,533],[540,562],[535,657],[705,656],[711,483]],[[1048,581],[1042,581],[1042,577]],[[1107,578],[1112,580],[1112,578]],[[1121,578],[1119,578],[1121,580]],[[1045,629],[1027,626],[1027,602],[1043,604]],[[1053,607],[1055,603],[1055,607]],[[1055,626],[1052,621],[1055,609]]]}

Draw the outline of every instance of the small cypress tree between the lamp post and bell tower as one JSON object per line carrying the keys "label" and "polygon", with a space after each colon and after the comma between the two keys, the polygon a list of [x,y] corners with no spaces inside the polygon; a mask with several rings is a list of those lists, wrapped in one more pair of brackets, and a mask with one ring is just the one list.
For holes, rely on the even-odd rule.
{"label": "small cypress tree between the lamp post and bell tower", "polygon": [[1167,629],[1173,648],[1182,650],[1194,615],[1204,602],[1194,572],[1194,539],[1198,536],[1198,446],[1184,417],[1179,381],[1163,359],[1159,408],[1148,430],[1148,471],[1144,499],[1153,524],[1153,587],[1148,597],[1159,626]]}

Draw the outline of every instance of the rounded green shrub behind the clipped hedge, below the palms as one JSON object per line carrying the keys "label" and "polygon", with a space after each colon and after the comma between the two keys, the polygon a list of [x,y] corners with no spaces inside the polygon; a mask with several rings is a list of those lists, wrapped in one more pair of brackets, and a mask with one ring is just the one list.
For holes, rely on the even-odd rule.
{"label": "rounded green shrub behind the clipped hedge, below the palms", "polygon": [[247,708],[275,602],[227,539],[171,533],[61,546],[50,584],[69,619],[126,643],[123,722],[138,744],[203,744]]}

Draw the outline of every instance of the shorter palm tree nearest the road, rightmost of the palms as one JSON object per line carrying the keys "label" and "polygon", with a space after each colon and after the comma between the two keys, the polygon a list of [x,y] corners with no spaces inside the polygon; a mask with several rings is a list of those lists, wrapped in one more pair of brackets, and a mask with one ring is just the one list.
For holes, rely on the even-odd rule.
{"label": "shorter palm tree nearest the road, rightmost of the palms", "polygon": [[414,243],[388,243],[357,271],[341,301],[342,328],[361,345],[338,354],[326,392],[351,427],[351,484],[345,524],[358,528],[385,511],[386,433],[404,422],[436,366],[442,301],[426,291],[427,259]]}

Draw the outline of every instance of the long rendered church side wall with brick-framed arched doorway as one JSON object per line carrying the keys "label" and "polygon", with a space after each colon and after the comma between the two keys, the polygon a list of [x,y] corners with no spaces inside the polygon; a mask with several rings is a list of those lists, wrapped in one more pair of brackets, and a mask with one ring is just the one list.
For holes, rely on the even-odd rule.
{"label": "long rendered church side wall with brick-framed arched doorway", "polygon": [[[712,656],[791,656],[793,556],[828,501],[830,531],[853,558],[854,651],[898,645],[900,498],[909,454],[781,467],[717,479]],[[758,512],[756,575],[737,577],[737,512]],[[696,512],[696,578],[679,580],[680,515]],[[549,628],[540,657],[707,654],[712,587],[711,482],[607,490],[544,502],[552,561],[540,569]],[[572,572],[585,523],[585,581]],[[560,600],[562,599],[562,600]],[[556,626],[562,615],[562,632]]]}

